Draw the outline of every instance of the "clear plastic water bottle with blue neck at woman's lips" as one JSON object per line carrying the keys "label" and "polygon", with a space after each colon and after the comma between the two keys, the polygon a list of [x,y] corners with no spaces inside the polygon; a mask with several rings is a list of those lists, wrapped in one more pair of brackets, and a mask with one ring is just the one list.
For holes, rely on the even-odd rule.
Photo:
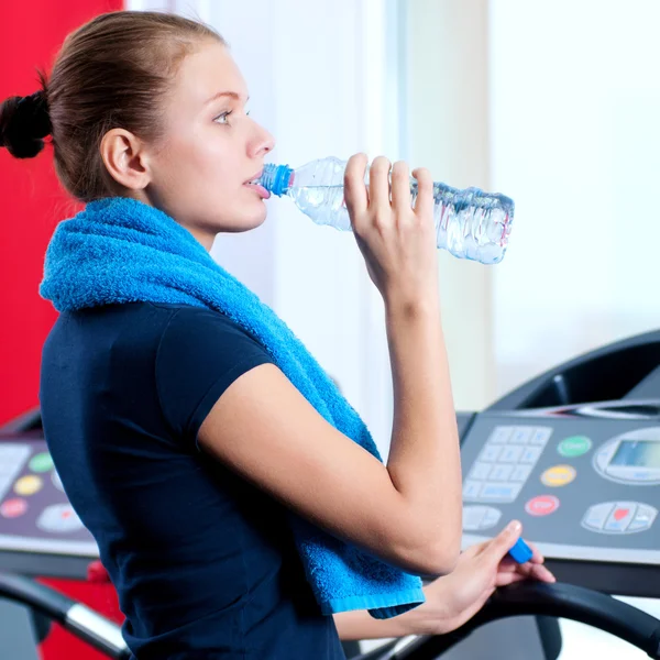
{"label": "clear plastic water bottle with blue neck at woman's lips", "polygon": [[[287,195],[317,224],[351,230],[343,196],[345,161],[328,157],[302,167],[268,164],[257,184],[273,195]],[[365,184],[369,185],[369,172]],[[410,177],[413,205],[417,199],[417,179]],[[438,248],[459,258],[483,264],[502,261],[508,245],[514,219],[514,201],[504,195],[479,188],[458,190],[433,184],[436,237]]]}

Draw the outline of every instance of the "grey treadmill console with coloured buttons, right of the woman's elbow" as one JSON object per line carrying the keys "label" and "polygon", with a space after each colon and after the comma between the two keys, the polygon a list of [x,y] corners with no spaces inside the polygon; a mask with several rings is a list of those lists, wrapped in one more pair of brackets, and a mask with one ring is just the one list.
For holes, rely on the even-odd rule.
{"label": "grey treadmill console with coloured buttons, right of the woman's elbow", "polygon": [[517,518],[560,580],[658,596],[660,332],[521,385],[474,417],[461,455],[463,547]]}

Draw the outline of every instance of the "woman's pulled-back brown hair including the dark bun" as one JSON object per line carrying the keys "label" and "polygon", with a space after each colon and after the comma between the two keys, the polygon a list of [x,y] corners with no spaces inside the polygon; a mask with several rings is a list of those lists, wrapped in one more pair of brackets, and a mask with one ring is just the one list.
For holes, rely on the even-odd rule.
{"label": "woman's pulled-back brown hair including the dark bun", "polygon": [[57,177],[87,202],[112,196],[101,155],[103,135],[122,128],[139,138],[163,138],[163,99],[184,57],[201,41],[227,42],[211,28],[175,14],[117,11],[70,33],[50,79],[40,89],[0,105],[0,146],[31,158],[52,136]]}

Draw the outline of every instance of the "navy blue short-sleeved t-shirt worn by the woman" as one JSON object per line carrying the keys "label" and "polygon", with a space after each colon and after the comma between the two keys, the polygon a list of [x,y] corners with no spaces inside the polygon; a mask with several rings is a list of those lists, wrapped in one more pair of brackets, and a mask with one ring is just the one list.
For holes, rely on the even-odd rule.
{"label": "navy blue short-sleeved t-shirt worn by the woman", "polygon": [[227,387],[267,362],[229,318],[186,305],[64,312],[44,344],[46,442],[139,660],[344,658],[286,509],[197,447]]}

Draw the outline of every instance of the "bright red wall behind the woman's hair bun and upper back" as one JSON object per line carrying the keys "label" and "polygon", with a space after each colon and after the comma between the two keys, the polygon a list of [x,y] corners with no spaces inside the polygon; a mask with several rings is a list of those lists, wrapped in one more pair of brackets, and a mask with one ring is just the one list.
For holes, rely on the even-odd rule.
{"label": "bright red wall behind the woman's hair bun and upper back", "polygon": [[[2,0],[0,100],[36,91],[68,32],[122,0]],[[0,425],[37,405],[41,349],[57,317],[38,296],[44,254],[58,220],[77,206],[61,189],[46,146],[18,161],[0,148]]]}

